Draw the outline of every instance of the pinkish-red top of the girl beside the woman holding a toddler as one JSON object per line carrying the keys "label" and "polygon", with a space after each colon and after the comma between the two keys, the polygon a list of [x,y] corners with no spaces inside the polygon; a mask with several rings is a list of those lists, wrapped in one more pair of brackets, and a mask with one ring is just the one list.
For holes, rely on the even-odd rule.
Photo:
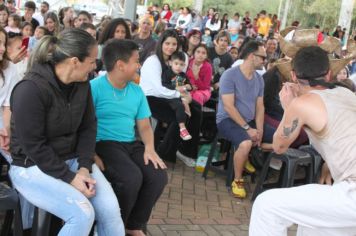
{"label": "pinkish-red top of the girl beside the woman holding a toddler", "polygon": [[210,82],[213,76],[213,69],[208,61],[203,62],[203,65],[199,71],[199,79],[195,79],[193,75],[192,65],[194,58],[189,60],[189,66],[187,70],[187,77],[192,85],[198,87],[198,90],[210,89]]}

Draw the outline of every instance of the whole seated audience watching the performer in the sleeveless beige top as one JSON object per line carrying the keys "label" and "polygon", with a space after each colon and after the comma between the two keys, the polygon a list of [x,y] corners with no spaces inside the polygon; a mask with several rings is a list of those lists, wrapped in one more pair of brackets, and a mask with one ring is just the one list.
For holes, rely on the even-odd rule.
{"label": "whole seated audience watching the performer in the sleeveless beige top", "polygon": [[[168,182],[165,163],[194,167],[209,131],[236,147],[232,194],[246,197],[251,149],[275,149],[286,123],[281,93],[291,80],[276,66],[284,56],[277,16],[220,20],[213,8],[201,16],[164,4],[137,21],[94,25],[71,7],[57,15],[42,2],[36,13],[27,1],[20,16],[11,4],[0,5],[0,153],[30,209],[26,229],[36,206],[64,222],[59,235],[88,235],[94,220],[99,236],[145,235]],[[349,71],[328,79],[355,91]],[[288,147],[308,143],[314,126],[304,124]]]}

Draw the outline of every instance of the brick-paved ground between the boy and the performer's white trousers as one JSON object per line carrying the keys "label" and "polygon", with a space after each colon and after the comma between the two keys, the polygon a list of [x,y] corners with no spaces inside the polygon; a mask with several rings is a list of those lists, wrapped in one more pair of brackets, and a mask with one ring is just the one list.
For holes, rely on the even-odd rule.
{"label": "brick-paved ground between the boy and the performer's white trousers", "polygon": [[[201,173],[179,161],[170,165],[168,176],[168,185],[149,221],[149,235],[248,235],[249,198],[254,189],[250,181],[248,199],[240,200],[231,196],[224,177],[204,180]],[[295,235],[295,227],[288,235]]]}

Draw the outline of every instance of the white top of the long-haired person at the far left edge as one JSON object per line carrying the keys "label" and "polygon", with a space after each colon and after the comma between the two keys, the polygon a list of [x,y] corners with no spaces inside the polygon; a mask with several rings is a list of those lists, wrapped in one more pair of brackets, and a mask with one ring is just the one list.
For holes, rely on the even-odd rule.
{"label": "white top of the long-haired person at the far left edge", "polygon": [[4,71],[4,77],[5,79],[1,78],[0,80],[0,128],[4,126],[2,116],[3,107],[10,106],[10,96],[12,89],[21,79],[19,74],[17,73],[15,65],[11,62],[9,62],[9,66]]}

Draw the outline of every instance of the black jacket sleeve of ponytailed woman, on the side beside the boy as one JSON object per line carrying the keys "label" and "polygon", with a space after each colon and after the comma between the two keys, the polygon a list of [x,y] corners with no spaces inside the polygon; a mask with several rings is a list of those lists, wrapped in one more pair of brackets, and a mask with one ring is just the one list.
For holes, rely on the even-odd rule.
{"label": "black jacket sleeve of ponytailed woman, on the side beside the boy", "polygon": [[85,167],[91,172],[91,167],[94,163],[96,117],[90,86],[88,86],[88,90],[87,107],[85,109],[82,123],[78,129],[76,153],[79,155],[78,168]]}

